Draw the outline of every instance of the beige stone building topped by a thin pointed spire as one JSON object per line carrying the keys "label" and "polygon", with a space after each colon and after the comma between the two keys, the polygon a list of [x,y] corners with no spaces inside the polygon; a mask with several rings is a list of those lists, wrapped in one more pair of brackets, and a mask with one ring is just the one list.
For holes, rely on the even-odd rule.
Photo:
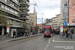
{"label": "beige stone building topped by a thin pointed spire", "polygon": [[26,22],[30,24],[30,29],[32,31],[34,27],[37,27],[37,12],[35,10],[35,7],[33,13],[29,13],[28,19],[29,20],[27,20]]}

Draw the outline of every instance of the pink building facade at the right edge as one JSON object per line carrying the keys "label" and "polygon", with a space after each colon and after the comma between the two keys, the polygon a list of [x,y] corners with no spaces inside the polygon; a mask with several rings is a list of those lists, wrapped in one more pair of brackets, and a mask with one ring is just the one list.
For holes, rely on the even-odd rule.
{"label": "pink building facade at the right edge", "polygon": [[74,29],[75,33],[75,0],[69,0],[69,31]]}

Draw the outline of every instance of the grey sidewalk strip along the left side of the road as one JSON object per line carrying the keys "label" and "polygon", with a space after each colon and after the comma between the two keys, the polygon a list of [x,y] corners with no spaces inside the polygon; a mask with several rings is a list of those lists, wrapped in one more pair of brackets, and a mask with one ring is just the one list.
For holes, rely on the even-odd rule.
{"label": "grey sidewalk strip along the left side of the road", "polygon": [[[12,41],[17,41],[17,40],[21,40],[21,39],[26,39],[26,38],[30,38],[30,37],[35,37],[35,36],[39,36],[39,35],[43,35],[43,33],[38,33],[38,34],[35,34],[35,35],[30,35],[30,36],[22,36],[22,37],[17,37],[17,38],[7,38],[7,39],[3,39],[3,40],[0,40],[0,45],[3,45],[7,42],[12,42]],[[5,37],[5,36],[4,36]]]}

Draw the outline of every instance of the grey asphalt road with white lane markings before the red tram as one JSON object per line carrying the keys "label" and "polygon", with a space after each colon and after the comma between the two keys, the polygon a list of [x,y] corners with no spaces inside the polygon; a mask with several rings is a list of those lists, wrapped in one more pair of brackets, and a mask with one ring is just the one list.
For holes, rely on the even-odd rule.
{"label": "grey asphalt road with white lane markings before the red tram", "polygon": [[[43,35],[8,42],[0,46],[0,50],[75,50],[74,42],[64,42],[59,39],[58,35],[51,38]],[[58,41],[56,41],[58,40]]]}

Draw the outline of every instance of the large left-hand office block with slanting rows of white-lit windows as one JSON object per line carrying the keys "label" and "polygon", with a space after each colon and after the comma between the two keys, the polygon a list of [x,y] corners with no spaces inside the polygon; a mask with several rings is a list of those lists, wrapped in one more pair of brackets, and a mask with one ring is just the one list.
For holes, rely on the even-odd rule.
{"label": "large left-hand office block with slanting rows of white-lit windows", "polygon": [[[20,23],[22,20],[19,20],[19,6],[19,0],[0,0],[0,12],[8,14],[5,17],[9,19],[7,20],[7,26],[1,26],[0,24],[0,35],[8,32],[12,36],[13,31],[17,34],[23,29],[23,24]],[[0,16],[3,16],[3,14],[0,14]]]}

